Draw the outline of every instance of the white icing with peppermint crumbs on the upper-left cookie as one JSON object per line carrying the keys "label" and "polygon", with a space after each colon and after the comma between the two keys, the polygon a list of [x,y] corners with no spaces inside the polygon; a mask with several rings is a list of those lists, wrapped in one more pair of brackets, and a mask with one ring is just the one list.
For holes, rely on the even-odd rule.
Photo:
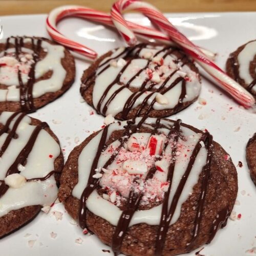
{"label": "white icing with peppermint crumbs on the upper-left cookie", "polygon": [[[6,39],[0,41],[2,44],[6,43]],[[15,39],[11,37],[9,39],[11,44],[15,44]],[[24,42],[31,42],[31,38],[25,38]],[[34,39],[34,44],[37,44],[37,39]],[[35,79],[42,77],[47,72],[51,71],[52,75],[48,79],[37,81],[33,84],[33,98],[38,98],[48,92],[56,92],[61,89],[66,77],[66,70],[61,65],[61,59],[65,57],[65,48],[59,45],[52,45],[49,42],[42,39],[41,47],[47,52],[46,56],[39,60],[35,65]],[[9,48],[7,50],[8,56],[4,56],[4,52],[0,53],[0,63],[5,63],[6,66],[0,67],[0,84],[8,86],[8,89],[0,89],[0,101],[19,101],[20,92],[19,89],[10,88],[12,86],[19,86],[18,81],[18,69],[21,71],[21,77],[23,84],[28,83],[28,74],[30,67],[33,63],[33,59],[27,59],[28,54],[32,54],[33,51],[28,48],[22,47],[22,54],[19,55],[20,60],[15,58],[15,48]],[[25,59],[24,59],[25,58]]]}

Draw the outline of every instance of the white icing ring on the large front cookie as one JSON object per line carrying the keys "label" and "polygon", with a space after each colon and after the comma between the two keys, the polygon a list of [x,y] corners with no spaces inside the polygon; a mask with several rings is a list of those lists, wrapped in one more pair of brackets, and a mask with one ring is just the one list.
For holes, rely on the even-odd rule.
{"label": "white icing ring on the large front cookie", "polygon": [[[136,118],[136,124],[140,120],[141,118]],[[151,124],[155,122],[156,122],[155,118],[147,118],[143,126],[152,127]],[[119,123],[110,124],[106,140],[108,140],[109,136],[113,131],[123,129],[126,123],[127,123],[126,121],[123,121],[123,122],[120,122],[120,124]],[[161,124],[164,124],[166,127],[170,127],[172,126],[172,121],[161,120]],[[169,132],[169,129],[159,129],[159,132],[163,133],[164,135],[167,135]],[[175,191],[177,189],[177,186],[179,184],[179,181],[186,170],[186,167],[188,165],[193,149],[201,137],[201,134],[197,134],[194,131],[184,126],[181,126],[181,134],[184,136],[185,140],[181,140],[181,138],[179,138],[178,140],[178,143],[180,145],[179,155],[176,156],[176,165],[175,165],[174,176],[172,181],[172,189],[169,196],[169,204],[172,201]],[[83,148],[82,152],[79,155],[78,183],[76,184],[76,186],[72,191],[72,195],[78,199],[80,199],[82,192],[87,185],[92,162],[95,158],[101,135],[102,135],[102,131],[97,136],[95,136]],[[115,141],[114,143],[112,143],[112,145],[116,147],[118,146],[118,143],[119,143],[118,141]],[[166,152],[169,152],[169,153],[172,152],[172,147],[170,145],[166,147]],[[112,153],[108,153],[108,150],[101,153],[97,168],[102,167],[104,163],[108,161],[111,154]],[[186,201],[186,199],[188,198],[188,196],[191,194],[193,190],[193,186],[197,183],[199,174],[201,173],[202,168],[206,163],[206,157],[207,157],[207,151],[205,147],[201,147],[199,154],[196,157],[195,163],[191,169],[191,172],[188,176],[185,187],[181,193],[181,196],[178,201],[178,205],[174,213],[174,217],[170,222],[170,224],[173,224],[178,220],[180,216],[181,205],[183,202]],[[163,166],[164,172],[160,172],[159,170],[157,170],[154,177],[157,178],[158,180],[166,181],[168,163],[164,162],[164,160],[162,161],[163,162],[161,166]],[[122,213],[122,211],[115,204],[100,197],[97,193],[97,190],[94,190],[93,193],[89,196],[86,206],[95,215],[105,219],[106,221],[109,221],[112,225],[115,225],[115,226],[117,225],[117,222]],[[151,209],[136,211],[130,222],[130,226],[138,223],[147,223],[149,225],[159,225],[160,217],[161,217],[161,209],[162,209],[162,204],[156,207],[153,207]]]}

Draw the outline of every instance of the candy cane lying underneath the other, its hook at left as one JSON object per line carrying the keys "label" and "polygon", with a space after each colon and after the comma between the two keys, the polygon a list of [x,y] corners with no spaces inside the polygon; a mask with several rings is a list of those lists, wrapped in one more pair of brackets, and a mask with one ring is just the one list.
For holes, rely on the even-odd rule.
{"label": "candy cane lying underneath the other, its hook at left", "polygon": [[[61,6],[58,8],[53,9],[46,20],[46,28],[50,36],[57,41],[59,44],[64,45],[68,47],[69,49],[82,54],[87,59],[93,60],[97,57],[97,53],[93,51],[92,49],[79,44],[78,42],[75,42],[73,40],[68,39],[67,37],[63,36],[59,31],[57,30],[57,23],[62,18],[68,17],[68,16],[76,16],[81,18],[90,19],[93,22],[98,22],[107,26],[115,27],[115,25],[112,22],[111,16],[109,14],[106,14],[104,12],[100,12],[97,10],[93,10],[87,7],[83,6],[73,6],[73,5],[67,5],[67,6]],[[167,45],[174,45],[174,42],[169,39],[168,36],[166,36],[161,31],[157,31],[152,28],[143,27],[131,22],[127,22],[127,25],[130,27],[130,29],[133,30],[133,32],[143,38],[153,38],[158,42],[161,42],[162,44]],[[211,53],[208,50],[201,49],[209,58],[214,58],[215,54]]]}

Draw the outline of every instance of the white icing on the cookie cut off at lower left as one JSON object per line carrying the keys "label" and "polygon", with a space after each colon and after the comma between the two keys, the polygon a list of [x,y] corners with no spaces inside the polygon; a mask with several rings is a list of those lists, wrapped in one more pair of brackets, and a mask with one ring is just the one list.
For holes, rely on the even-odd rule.
{"label": "white icing on the cookie cut off at lower left", "polygon": [[[12,112],[3,112],[0,115],[0,123],[6,124]],[[11,122],[12,129],[15,121],[19,117],[18,114]],[[31,119],[25,116],[19,123],[16,134],[17,138],[12,138],[7,150],[0,158],[1,172],[0,180],[4,180],[7,170],[15,161],[20,151],[28,142],[31,134],[35,129],[35,125],[31,125]],[[7,133],[0,136],[0,146],[2,147]],[[60,154],[58,143],[42,129],[34,143],[30,152],[27,163],[24,167],[19,166],[20,175],[26,179],[42,178],[47,176],[54,170],[54,161]],[[1,182],[0,182],[1,184]],[[51,205],[57,197],[58,188],[54,179],[54,175],[45,181],[27,181],[19,188],[9,187],[7,192],[0,197],[0,217],[8,214],[11,210],[20,209],[30,205]]]}

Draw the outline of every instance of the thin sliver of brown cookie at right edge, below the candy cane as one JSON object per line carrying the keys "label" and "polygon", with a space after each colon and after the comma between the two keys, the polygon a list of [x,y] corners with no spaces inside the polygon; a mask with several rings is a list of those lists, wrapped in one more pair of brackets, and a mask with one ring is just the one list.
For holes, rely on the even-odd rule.
{"label": "thin sliver of brown cookie at right edge, below the candy cane", "polygon": [[256,185],[256,133],[247,143],[246,160],[250,169],[251,179]]}

